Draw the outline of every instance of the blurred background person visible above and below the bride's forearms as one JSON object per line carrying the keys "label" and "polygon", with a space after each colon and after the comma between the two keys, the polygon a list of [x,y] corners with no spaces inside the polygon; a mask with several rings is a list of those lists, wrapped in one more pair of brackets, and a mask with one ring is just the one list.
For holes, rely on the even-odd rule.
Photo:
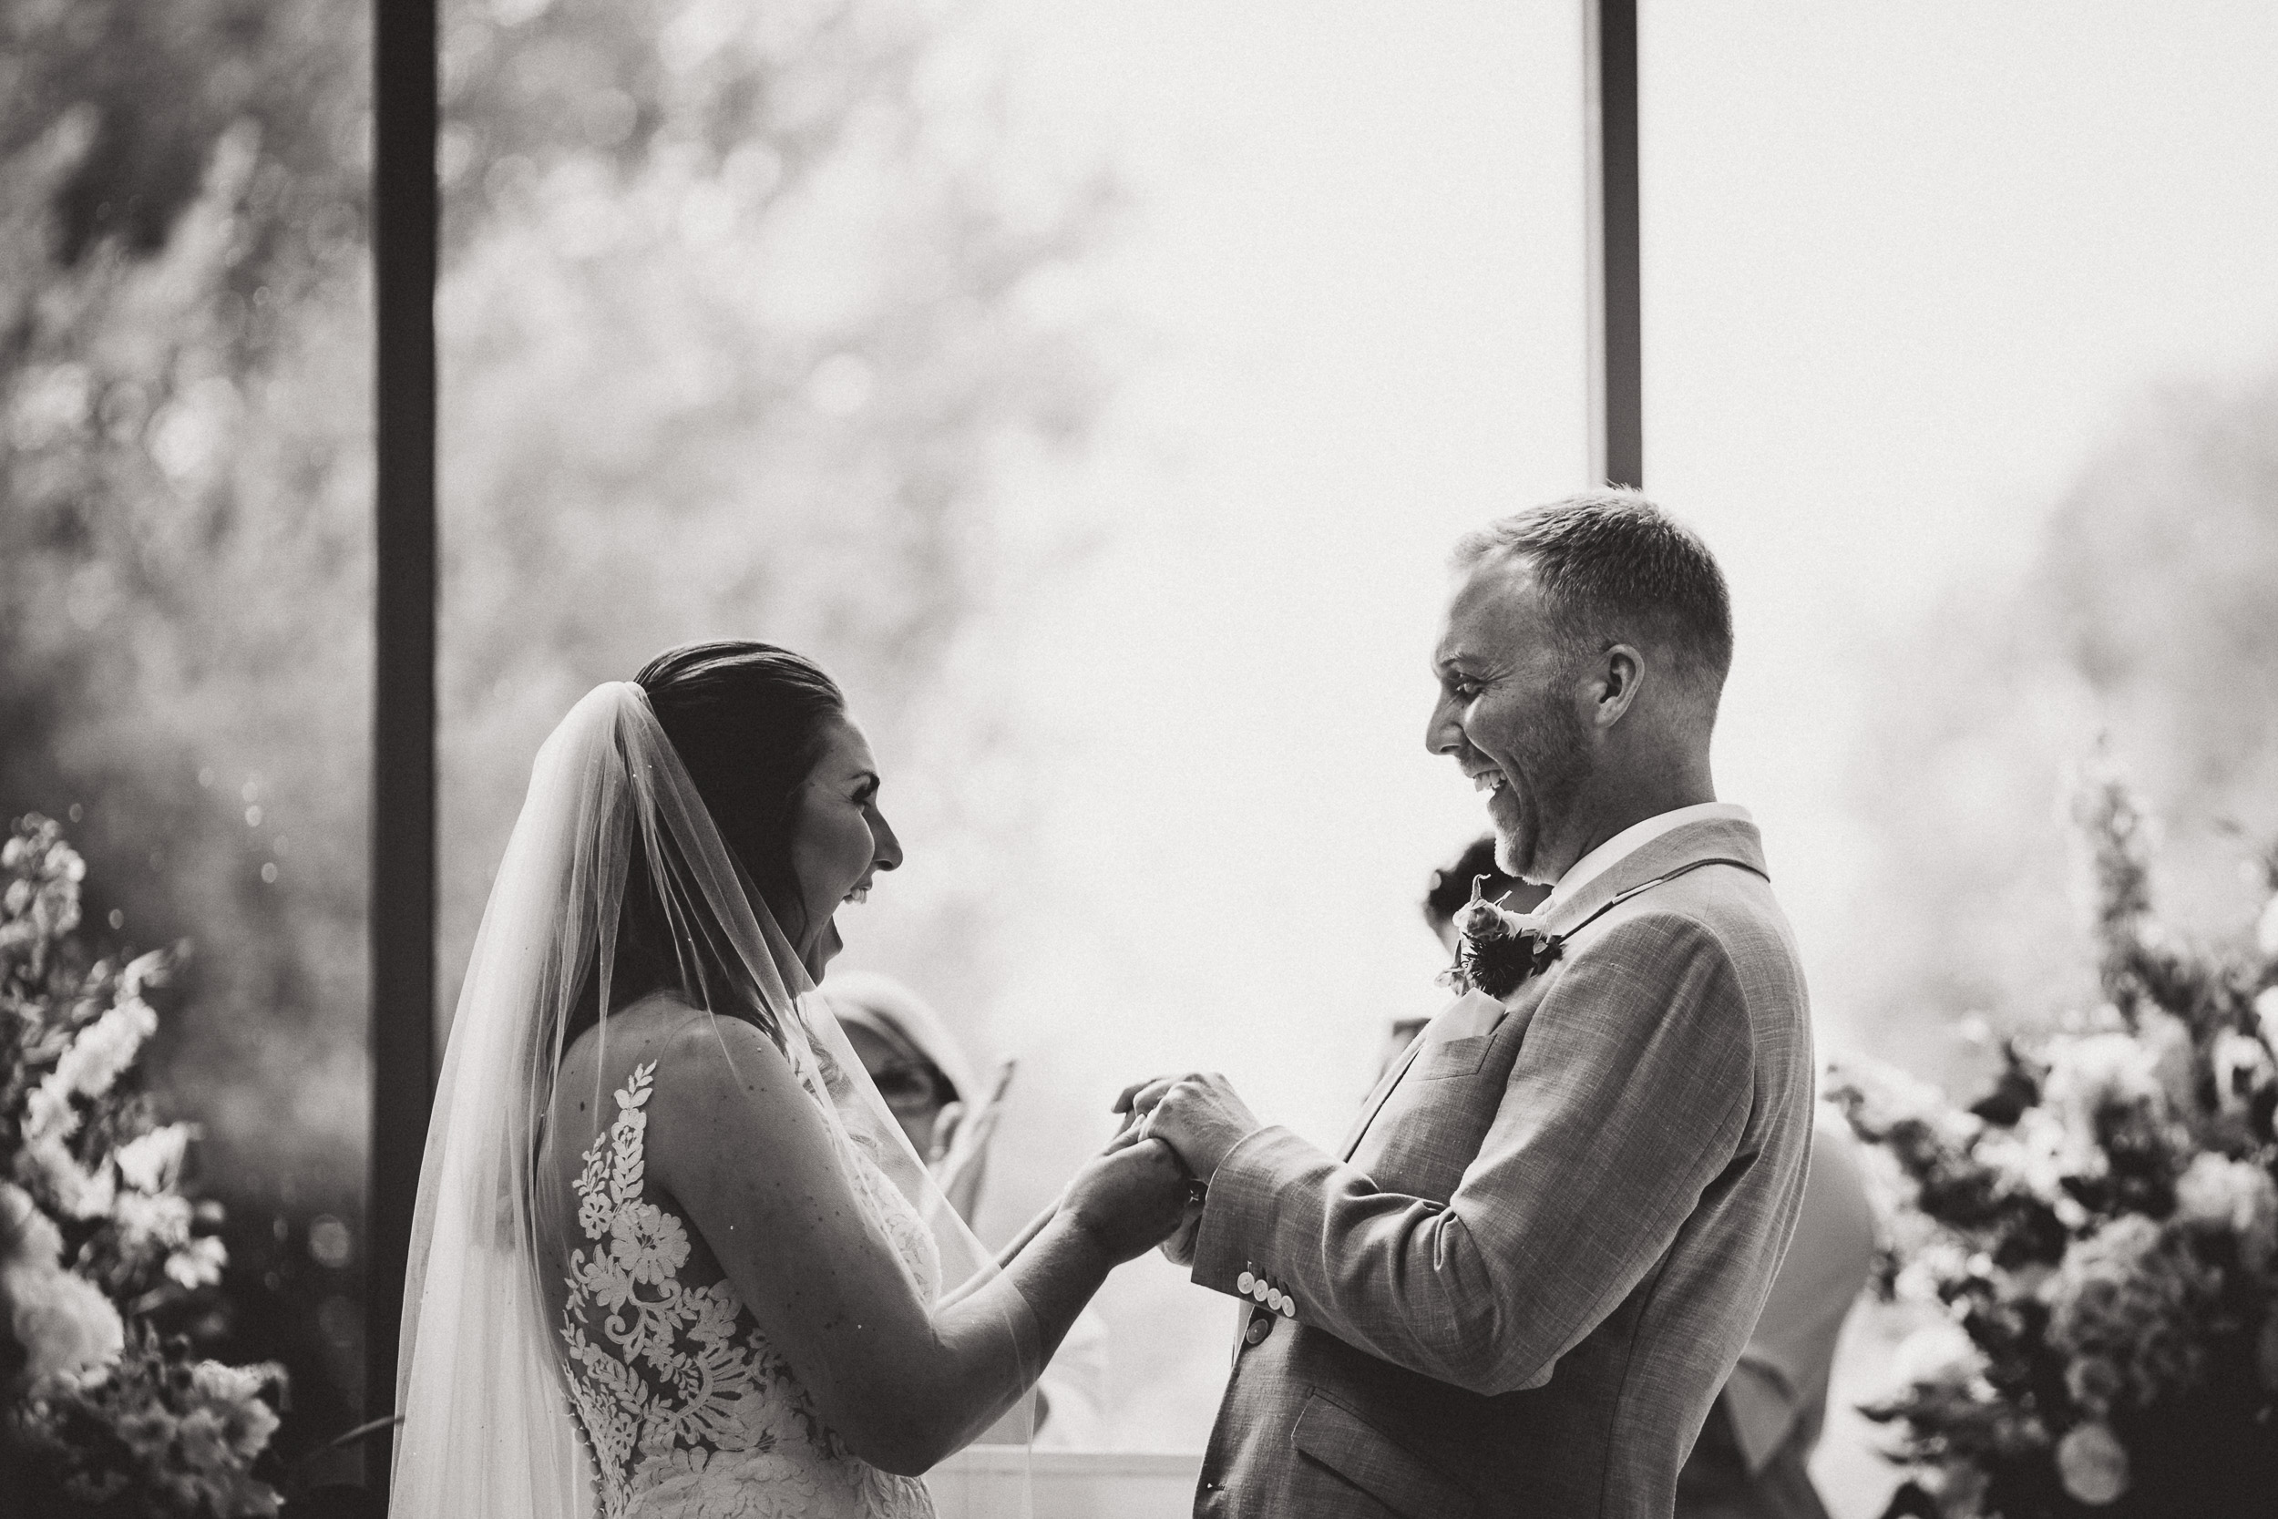
{"label": "blurred background person visible above and below the bride's forearms", "polygon": [[[888,975],[841,970],[825,982],[822,995],[909,1146],[925,1157],[941,1193],[970,1225],[1014,1064],[1002,1061],[984,1091],[941,1013]],[[1107,1444],[1105,1410],[1107,1323],[1087,1307],[1036,1380],[1034,1444],[1096,1451]],[[1005,1439],[1016,1442],[1021,1432],[998,1426],[982,1435],[982,1444]]]}

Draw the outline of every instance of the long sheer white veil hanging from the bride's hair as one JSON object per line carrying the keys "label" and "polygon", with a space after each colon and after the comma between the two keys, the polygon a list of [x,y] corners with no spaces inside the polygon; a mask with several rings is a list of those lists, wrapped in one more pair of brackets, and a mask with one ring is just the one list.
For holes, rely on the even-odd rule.
{"label": "long sheer white veil hanging from the bride's hair", "polygon": [[[950,1296],[993,1271],[738,870],[647,692],[599,685],[538,752],[460,988],[412,1218],[392,1514],[597,1512],[544,1307],[542,1273],[560,1262],[544,1243],[558,1221],[540,1216],[538,1155],[581,993],[608,1038],[629,893],[661,913],[667,979],[690,1004],[759,1023],[777,1045],[809,1041],[836,1066],[825,1120],[927,1221]],[[588,1105],[597,1123],[601,1098]]]}

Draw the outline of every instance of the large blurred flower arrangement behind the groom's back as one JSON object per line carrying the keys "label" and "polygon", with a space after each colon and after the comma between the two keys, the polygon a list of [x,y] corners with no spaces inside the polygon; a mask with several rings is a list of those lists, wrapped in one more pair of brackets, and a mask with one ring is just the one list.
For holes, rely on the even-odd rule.
{"label": "large blurred flower arrangement behind the groom's back", "polygon": [[2128,788],[2075,811],[2105,1002],[1968,1109],[1832,1073],[1893,1189],[1882,1287],[1939,1309],[1866,1410],[1909,1467],[1886,1519],[2278,1512],[2278,852],[2255,943],[2191,947]]}

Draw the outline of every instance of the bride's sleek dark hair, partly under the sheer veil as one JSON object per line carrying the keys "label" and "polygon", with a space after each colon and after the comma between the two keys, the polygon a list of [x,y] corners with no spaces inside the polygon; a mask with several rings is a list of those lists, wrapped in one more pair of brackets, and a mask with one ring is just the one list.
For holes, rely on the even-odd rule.
{"label": "bride's sleek dark hair, partly under the sheer veil", "polygon": [[[649,695],[649,711],[704,797],[747,890],[797,943],[806,911],[790,868],[790,824],[829,724],[845,717],[838,683],[804,654],[729,638],[665,649],[633,681]],[[713,1011],[740,1011],[722,1007],[720,993],[743,977],[720,966],[711,945],[688,943],[686,929],[674,934],[670,918],[636,845],[608,975],[611,1011],[656,991],[704,995]],[[599,966],[585,968],[565,1050],[601,1018],[599,975]],[[734,993],[724,1000],[743,1002]]]}

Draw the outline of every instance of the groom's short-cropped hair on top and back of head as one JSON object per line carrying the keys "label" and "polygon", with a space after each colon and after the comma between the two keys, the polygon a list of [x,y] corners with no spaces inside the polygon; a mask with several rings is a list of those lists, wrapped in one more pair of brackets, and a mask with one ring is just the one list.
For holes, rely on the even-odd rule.
{"label": "groom's short-cropped hair on top and back of head", "polygon": [[1658,644],[1713,699],[1731,670],[1731,594],[1708,544],[1633,490],[1595,490],[1499,517],[1456,567],[1524,558],[1576,647]]}

